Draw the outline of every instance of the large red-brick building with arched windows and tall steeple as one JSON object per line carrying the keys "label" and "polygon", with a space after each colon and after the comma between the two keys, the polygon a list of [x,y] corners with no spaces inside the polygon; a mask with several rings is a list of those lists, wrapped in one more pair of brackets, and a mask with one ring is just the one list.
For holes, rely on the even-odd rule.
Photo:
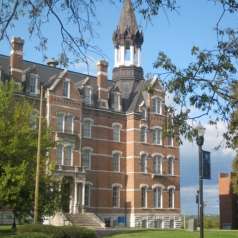
{"label": "large red-brick building with arched windows and tall steeple", "polygon": [[56,142],[50,158],[62,179],[66,214],[94,213],[111,226],[179,228],[179,147],[163,136],[168,115],[160,81],[144,79],[143,34],[130,0],[113,43],[112,80],[104,60],[97,76],[23,60],[20,38],[12,40],[10,57],[0,55],[0,72],[35,100],[44,86],[44,113]]}

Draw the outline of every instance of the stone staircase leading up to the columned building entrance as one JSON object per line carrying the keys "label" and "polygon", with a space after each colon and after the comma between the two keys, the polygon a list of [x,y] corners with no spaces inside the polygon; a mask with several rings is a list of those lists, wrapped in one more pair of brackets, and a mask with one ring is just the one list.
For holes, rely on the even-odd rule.
{"label": "stone staircase leading up to the columned building entrance", "polygon": [[66,217],[72,225],[91,229],[105,228],[105,223],[94,213],[66,214]]}

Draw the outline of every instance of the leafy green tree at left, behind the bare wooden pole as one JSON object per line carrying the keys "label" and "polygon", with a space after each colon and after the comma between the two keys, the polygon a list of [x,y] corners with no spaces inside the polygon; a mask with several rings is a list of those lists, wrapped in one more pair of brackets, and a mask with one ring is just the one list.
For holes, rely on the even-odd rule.
{"label": "leafy green tree at left, behind the bare wooden pole", "polygon": [[[17,90],[12,80],[0,82],[0,206],[22,218],[33,211],[37,127],[31,103]],[[54,212],[58,198],[57,181],[45,167],[49,135],[48,129],[42,132],[41,215]]]}

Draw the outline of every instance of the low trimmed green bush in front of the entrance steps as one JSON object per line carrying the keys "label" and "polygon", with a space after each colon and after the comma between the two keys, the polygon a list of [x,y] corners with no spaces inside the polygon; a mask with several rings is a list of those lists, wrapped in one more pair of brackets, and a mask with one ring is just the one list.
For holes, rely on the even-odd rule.
{"label": "low trimmed green bush in front of the entrance steps", "polygon": [[[93,230],[81,228],[77,226],[50,226],[50,225],[23,225],[18,226],[17,233],[43,233],[50,238],[96,238]],[[36,237],[35,237],[36,238]],[[37,237],[38,238],[38,237]]]}

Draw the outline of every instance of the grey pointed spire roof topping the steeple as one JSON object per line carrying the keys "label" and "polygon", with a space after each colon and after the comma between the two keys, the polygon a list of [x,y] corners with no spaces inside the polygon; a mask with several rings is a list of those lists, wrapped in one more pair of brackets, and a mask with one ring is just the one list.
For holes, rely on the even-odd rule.
{"label": "grey pointed spire roof topping the steeple", "polygon": [[126,30],[130,30],[132,34],[136,34],[136,32],[138,31],[136,16],[131,0],[124,0],[123,2],[123,8],[118,28],[120,33],[124,33]]}

